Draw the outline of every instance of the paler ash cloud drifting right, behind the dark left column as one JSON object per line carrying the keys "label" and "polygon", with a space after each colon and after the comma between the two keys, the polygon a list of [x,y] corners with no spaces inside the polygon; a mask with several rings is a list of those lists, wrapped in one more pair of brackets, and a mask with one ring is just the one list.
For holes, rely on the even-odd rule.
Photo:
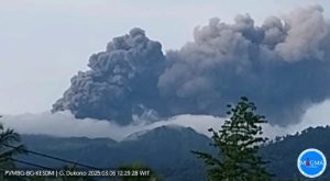
{"label": "paler ash cloud drifting right, behind the dark left column", "polygon": [[255,26],[249,15],[196,29],[195,42],[169,52],[158,88],[182,113],[223,113],[246,95],[274,124],[298,122],[311,103],[330,95],[329,24],[319,7]]}

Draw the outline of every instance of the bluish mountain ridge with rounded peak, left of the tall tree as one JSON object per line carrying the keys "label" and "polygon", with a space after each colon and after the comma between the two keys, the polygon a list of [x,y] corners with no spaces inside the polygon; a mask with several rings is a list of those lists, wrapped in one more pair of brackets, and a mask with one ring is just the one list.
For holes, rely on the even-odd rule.
{"label": "bluish mountain ridge with rounded peak, left of the tall tree", "polygon": [[[23,143],[31,150],[98,168],[143,162],[169,181],[205,180],[202,165],[190,150],[212,149],[208,137],[193,128],[178,126],[161,126],[145,133],[136,133],[119,143],[107,138],[54,138],[36,135],[23,135]],[[63,165],[32,155],[22,159],[54,168]]]}

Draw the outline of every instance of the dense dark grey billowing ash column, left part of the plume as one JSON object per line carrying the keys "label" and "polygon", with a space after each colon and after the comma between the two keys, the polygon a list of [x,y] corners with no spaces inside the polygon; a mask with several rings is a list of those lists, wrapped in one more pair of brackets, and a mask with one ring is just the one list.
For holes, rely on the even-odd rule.
{"label": "dense dark grey billowing ash column, left part of the plume", "polygon": [[72,78],[70,88],[53,111],[70,110],[76,117],[132,121],[132,114],[158,106],[157,80],[163,71],[164,55],[158,42],[150,41],[144,31],[113,38],[106,52],[91,55],[89,71]]}

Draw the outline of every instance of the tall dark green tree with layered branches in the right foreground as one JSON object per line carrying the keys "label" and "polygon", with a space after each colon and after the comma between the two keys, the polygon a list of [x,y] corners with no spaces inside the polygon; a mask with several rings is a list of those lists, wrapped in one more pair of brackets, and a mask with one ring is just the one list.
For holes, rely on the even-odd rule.
{"label": "tall dark green tree with layered branches in the right foreground", "polygon": [[261,126],[266,123],[265,117],[255,114],[256,106],[245,97],[234,108],[228,108],[229,120],[224,121],[220,131],[209,129],[212,133],[211,145],[218,149],[218,156],[193,151],[207,165],[208,180],[271,180],[272,174],[265,169],[267,161],[257,155],[260,146],[267,140],[262,137]]}

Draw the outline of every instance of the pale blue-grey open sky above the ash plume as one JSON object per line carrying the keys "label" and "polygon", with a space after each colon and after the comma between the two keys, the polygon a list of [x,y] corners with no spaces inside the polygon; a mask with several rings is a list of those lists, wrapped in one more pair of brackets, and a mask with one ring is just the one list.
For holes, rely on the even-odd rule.
{"label": "pale blue-grey open sky above the ash plume", "polygon": [[327,0],[1,0],[0,113],[50,110],[89,56],[132,27],[144,29],[165,52],[193,39],[194,27],[210,18],[232,22],[249,13],[261,24],[315,3],[330,16]]}

